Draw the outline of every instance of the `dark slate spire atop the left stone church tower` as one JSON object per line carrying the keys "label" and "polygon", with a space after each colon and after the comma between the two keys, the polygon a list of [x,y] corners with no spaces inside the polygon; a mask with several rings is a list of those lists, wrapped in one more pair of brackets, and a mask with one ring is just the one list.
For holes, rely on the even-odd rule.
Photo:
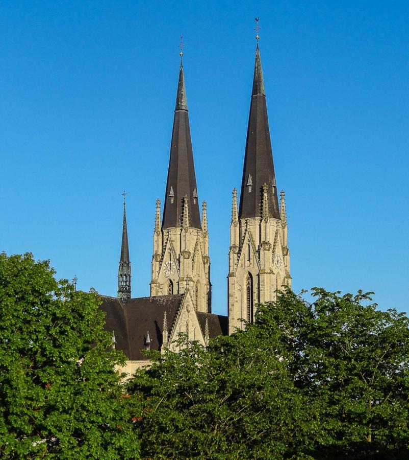
{"label": "dark slate spire atop the left stone church tower", "polygon": [[201,228],[182,55],[181,52],[162,228],[181,226],[186,195],[190,227]]}

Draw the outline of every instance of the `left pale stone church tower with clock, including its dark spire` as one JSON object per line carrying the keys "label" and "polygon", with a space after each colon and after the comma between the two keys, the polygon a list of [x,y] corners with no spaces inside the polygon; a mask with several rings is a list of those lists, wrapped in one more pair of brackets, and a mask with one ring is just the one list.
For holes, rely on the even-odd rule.
{"label": "left pale stone church tower with clock, including its dark spire", "polygon": [[207,211],[203,201],[200,220],[182,56],[181,52],[162,225],[161,203],[156,201],[150,295],[188,290],[195,310],[210,312]]}

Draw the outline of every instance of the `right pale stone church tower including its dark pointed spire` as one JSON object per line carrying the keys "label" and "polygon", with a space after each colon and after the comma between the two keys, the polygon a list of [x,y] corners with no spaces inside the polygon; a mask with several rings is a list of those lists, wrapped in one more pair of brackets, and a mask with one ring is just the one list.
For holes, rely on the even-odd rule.
{"label": "right pale stone church tower including its dark pointed spire", "polygon": [[255,304],[275,300],[283,285],[291,287],[285,198],[282,191],[278,204],[258,43],[239,208],[233,190],[228,262],[231,334],[243,327],[241,318],[253,321]]}

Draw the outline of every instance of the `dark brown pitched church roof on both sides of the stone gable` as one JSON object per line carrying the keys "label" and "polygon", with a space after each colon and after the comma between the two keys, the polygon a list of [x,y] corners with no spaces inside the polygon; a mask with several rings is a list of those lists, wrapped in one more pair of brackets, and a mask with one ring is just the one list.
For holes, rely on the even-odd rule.
{"label": "dark brown pitched church roof on both sides of the stone gable", "polygon": [[[158,295],[155,297],[131,298],[121,302],[116,297],[102,295],[99,307],[106,314],[106,330],[115,334],[115,347],[122,350],[127,359],[146,359],[145,350],[149,332],[150,350],[162,347],[163,318],[167,315],[168,331],[182,305],[184,295]],[[204,336],[206,318],[208,318],[209,337],[227,335],[227,316],[196,312]]]}

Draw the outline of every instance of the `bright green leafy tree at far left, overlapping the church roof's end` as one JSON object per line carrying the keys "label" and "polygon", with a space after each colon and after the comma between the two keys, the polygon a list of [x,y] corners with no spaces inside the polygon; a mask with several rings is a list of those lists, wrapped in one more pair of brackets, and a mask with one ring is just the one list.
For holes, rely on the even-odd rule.
{"label": "bright green leafy tree at far left, overlapping the church roof's end", "polygon": [[138,457],[96,292],[0,254],[0,456]]}

